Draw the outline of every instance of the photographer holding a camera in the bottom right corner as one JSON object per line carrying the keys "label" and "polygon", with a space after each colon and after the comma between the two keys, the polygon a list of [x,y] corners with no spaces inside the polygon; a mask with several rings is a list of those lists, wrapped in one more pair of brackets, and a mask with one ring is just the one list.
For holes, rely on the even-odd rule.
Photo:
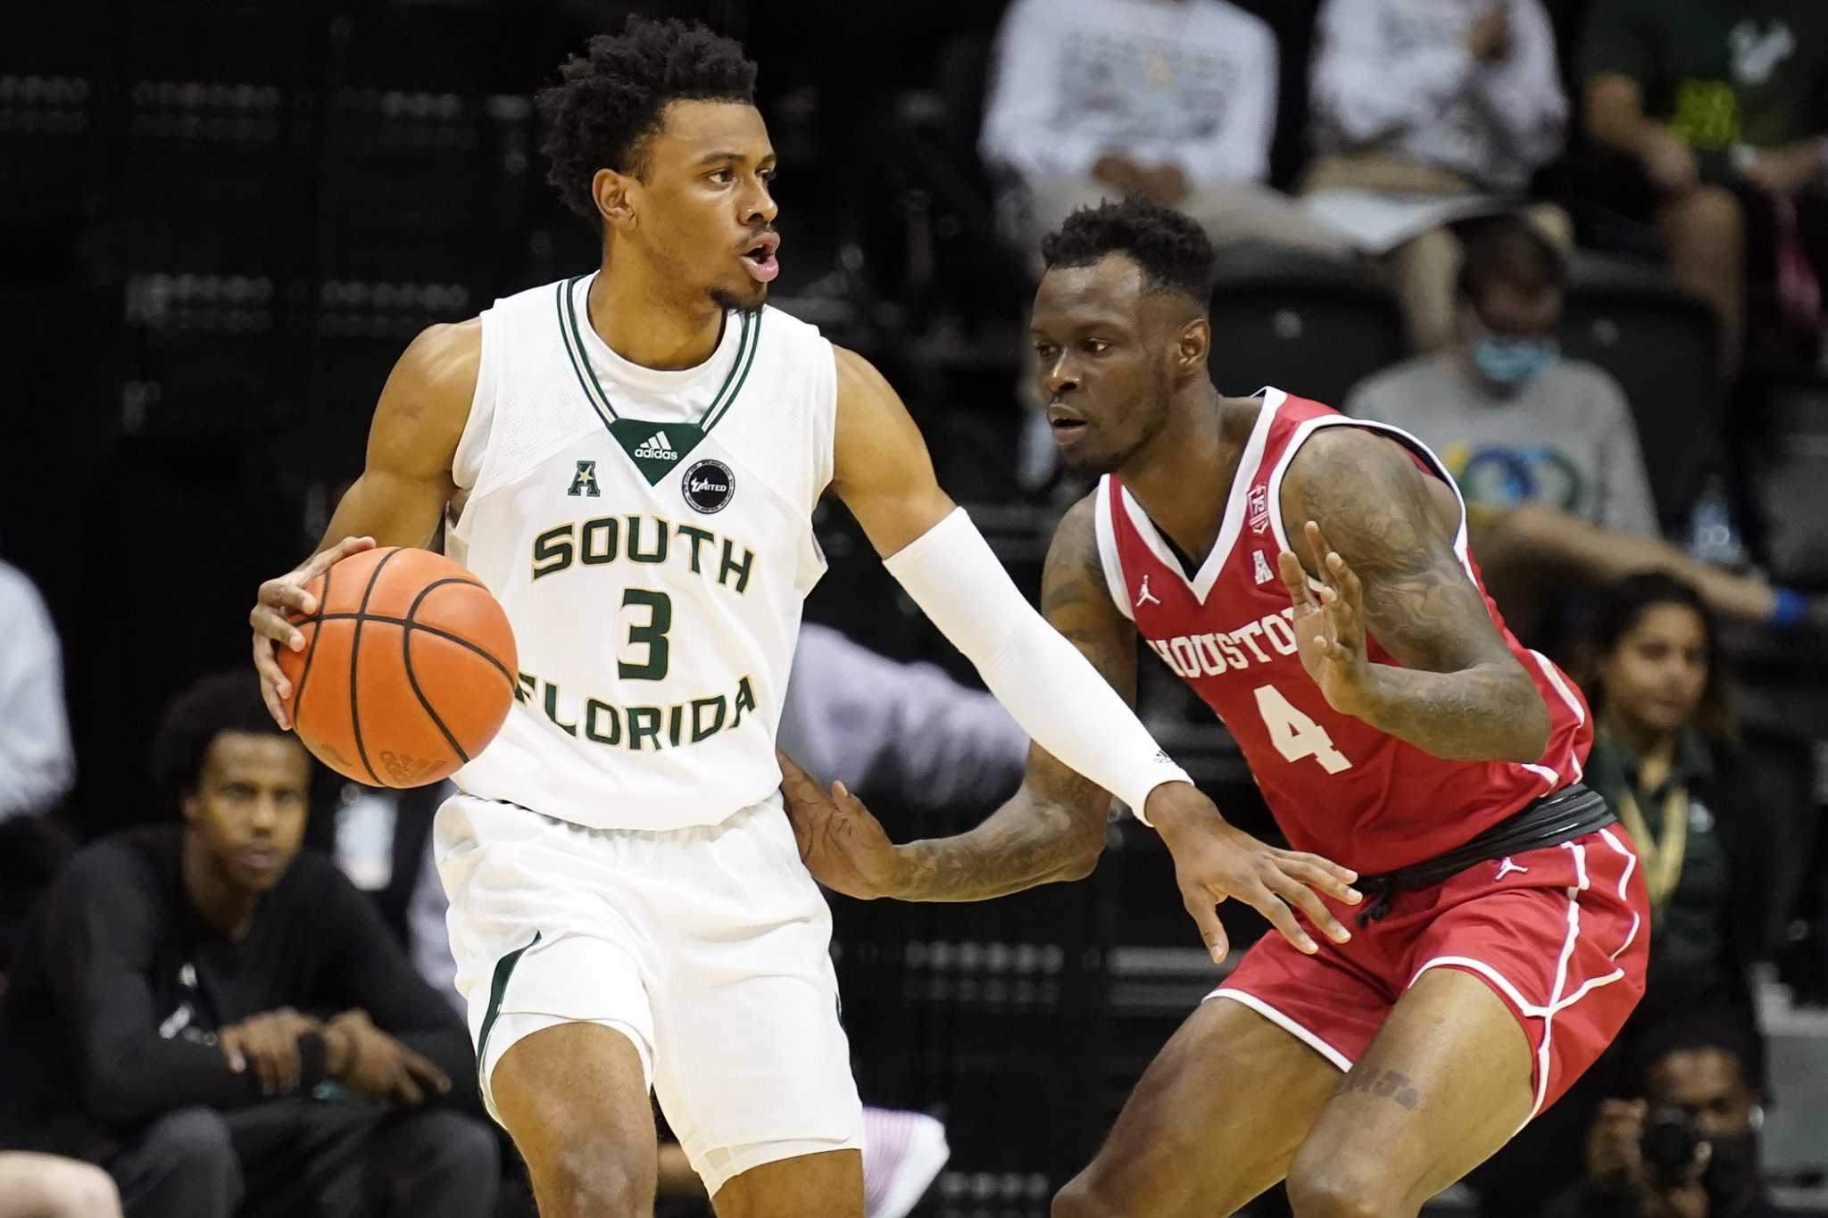
{"label": "photographer holding a camera in the bottom right corner", "polygon": [[1543,1218],[1775,1218],[1759,1181],[1764,1054],[1706,1019],[1663,1024],[1632,1054],[1629,1099],[1587,1136],[1587,1176]]}

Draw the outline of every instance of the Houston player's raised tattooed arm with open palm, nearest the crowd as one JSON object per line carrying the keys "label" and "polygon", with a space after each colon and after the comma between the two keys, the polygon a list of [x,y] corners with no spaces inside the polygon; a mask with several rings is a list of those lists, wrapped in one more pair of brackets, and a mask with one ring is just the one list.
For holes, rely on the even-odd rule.
{"label": "Houston player's raised tattooed arm with open palm, nearest the crowd", "polygon": [[[1439,758],[1543,756],[1548,709],[1453,551],[1448,486],[1395,440],[1323,427],[1289,466],[1281,517],[1302,663],[1334,710]],[[1369,663],[1367,634],[1400,667]]]}

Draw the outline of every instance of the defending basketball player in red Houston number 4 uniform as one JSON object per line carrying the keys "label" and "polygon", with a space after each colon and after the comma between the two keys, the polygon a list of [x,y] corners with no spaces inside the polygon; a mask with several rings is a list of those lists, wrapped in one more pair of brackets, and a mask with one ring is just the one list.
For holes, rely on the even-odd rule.
{"label": "defending basketball player in red Houston number 4 uniform", "polygon": [[[1126,201],[1042,247],[1033,340],[1064,458],[1042,608],[1126,696],[1135,639],[1238,740],[1298,851],[1358,871],[1322,935],[1265,935],[1142,1076],[1057,1216],[1415,1214],[1600,1055],[1643,992],[1632,844],[1579,785],[1574,685],[1504,628],[1459,491],[1391,427],[1206,373],[1212,248]],[[1031,767],[1033,769],[1033,767]],[[1084,875],[1102,793],[890,845],[790,774],[802,853],[861,897],[974,900]],[[1155,818],[1170,845],[1188,831]],[[1214,953],[1225,933],[1194,908]]]}

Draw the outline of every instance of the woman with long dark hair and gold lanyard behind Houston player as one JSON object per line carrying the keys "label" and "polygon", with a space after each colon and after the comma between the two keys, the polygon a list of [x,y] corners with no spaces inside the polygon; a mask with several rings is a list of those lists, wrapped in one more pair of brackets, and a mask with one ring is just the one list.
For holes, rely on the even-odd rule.
{"label": "woman with long dark hair and gold lanyard behind Houston player", "polygon": [[1587,785],[1631,833],[1651,895],[1651,964],[1632,1026],[1682,1013],[1751,1026],[1759,915],[1713,617],[1687,584],[1632,575],[1600,601],[1587,650]]}

